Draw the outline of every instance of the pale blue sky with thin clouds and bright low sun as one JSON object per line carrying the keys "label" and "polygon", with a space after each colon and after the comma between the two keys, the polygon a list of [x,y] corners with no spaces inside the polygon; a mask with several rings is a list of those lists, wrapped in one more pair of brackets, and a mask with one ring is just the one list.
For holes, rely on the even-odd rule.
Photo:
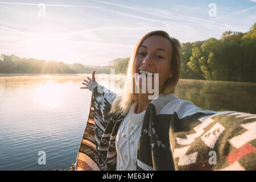
{"label": "pale blue sky with thin clouds and bright low sun", "polygon": [[256,0],[0,0],[0,54],[108,65],[150,31],[185,43],[255,22]]}

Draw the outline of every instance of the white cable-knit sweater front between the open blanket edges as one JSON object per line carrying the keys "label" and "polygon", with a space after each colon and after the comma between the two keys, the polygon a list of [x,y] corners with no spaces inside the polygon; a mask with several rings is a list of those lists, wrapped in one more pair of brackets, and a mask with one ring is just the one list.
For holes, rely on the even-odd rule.
{"label": "white cable-knit sweater front between the open blanket edges", "polygon": [[137,160],[137,149],[143,118],[146,110],[136,114],[135,109],[138,102],[134,102],[129,113],[123,119],[118,128],[117,138],[115,139],[117,147],[117,171],[135,171]]}

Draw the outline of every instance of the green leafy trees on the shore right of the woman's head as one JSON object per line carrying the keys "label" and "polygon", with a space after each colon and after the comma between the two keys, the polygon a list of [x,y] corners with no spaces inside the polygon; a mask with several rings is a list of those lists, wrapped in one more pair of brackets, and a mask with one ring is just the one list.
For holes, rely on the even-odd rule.
{"label": "green leafy trees on the shore right of the woman's head", "polygon": [[182,43],[181,78],[256,82],[256,23],[246,33]]}

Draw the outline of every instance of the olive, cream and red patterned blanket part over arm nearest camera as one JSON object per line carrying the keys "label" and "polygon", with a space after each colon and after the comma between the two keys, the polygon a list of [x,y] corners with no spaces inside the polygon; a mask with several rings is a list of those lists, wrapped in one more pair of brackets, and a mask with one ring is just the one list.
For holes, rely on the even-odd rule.
{"label": "olive, cream and red patterned blanket part over arm nearest camera", "polygon": [[[172,142],[176,170],[255,170],[256,115],[218,112],[187,123],[189,132],[172,127]],[[182,127],[181,127],[182,128]],[[210,152],[216,154],[216,164],[210,164]],[[206,160],[208,159],[208,160]]]}

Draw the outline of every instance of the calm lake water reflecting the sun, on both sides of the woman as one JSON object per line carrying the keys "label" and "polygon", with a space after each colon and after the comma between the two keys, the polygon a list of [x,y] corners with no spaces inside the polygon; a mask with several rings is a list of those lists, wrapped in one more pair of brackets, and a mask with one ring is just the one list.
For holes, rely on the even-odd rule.
{"label": "calm lake water reflecting the sun, on both sides of the woman", "polygon": [[[80,75],[0,75],[0,170],[69,169],[89,114]],[[105,76],[96,80],[108,87]],[[256,114],[256,83],[181,79],[176,94],[205,110]],[[39,151],[46,152],[40,165]]]}

